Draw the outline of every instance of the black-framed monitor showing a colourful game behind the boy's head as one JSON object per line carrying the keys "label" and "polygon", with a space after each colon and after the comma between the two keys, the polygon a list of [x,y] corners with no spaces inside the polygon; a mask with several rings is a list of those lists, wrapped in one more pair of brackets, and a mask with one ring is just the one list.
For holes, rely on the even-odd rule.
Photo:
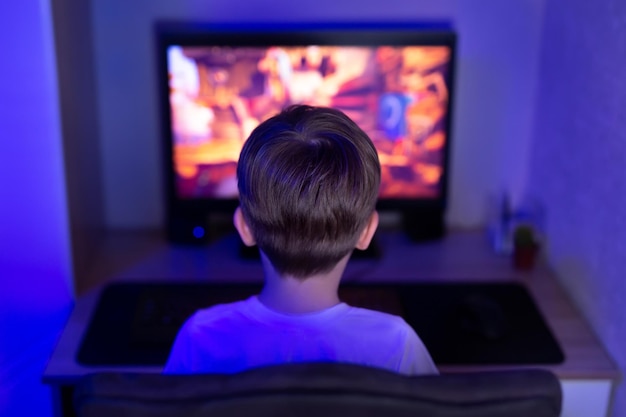
{"label": "black-framed monitor showing a colourful game behind the boy's head", "polygon": [[378,209],[416,240],[441,236],[455,45],[444,24],[159,23],[170,240],[204,241],[210,217],[232,213],[248,134],[296,103],[359,124],[381,161]]}

